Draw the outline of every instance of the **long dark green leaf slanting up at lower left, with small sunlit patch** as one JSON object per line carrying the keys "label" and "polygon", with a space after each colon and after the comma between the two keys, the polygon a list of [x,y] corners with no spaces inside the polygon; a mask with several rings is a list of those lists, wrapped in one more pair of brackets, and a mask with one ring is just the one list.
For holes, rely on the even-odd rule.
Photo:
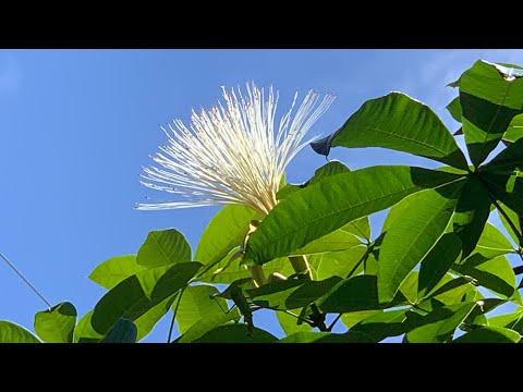
{"label": "long dark green leaf slanting up at lower left, with small sunlit patch", "polygon": [[90,320],[93,328],[106,334],[119,318],[136,320],[185,286],[200,267],[196,261],[179,262],[125,279],[96,304]]}

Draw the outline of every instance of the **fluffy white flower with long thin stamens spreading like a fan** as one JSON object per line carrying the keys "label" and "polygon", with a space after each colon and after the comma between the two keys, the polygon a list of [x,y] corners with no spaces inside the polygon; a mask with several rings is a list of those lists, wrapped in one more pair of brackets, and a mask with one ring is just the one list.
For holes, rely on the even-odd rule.
{"label": "fluffy white flower with long thin stamens spreading like a fan", "polygon": [[[191,124],[174,120],[174,127],[162,127],[168,144],[153,160],[157,166],[144,168],[141,183],[179,196],[179,200],[138,204],[138,209],[170,209],[208,205],[236,204],[267,215],[277,204],[276,194],[290,160],[307,143],[307,131],[328,109],[335,96],[320,101],[309,90],[293,117],[296,103],[275,128],[278,91],[247,83],[247,95],[240,89],[223,89],[221,102],[199,115],[193,110]],[[238,94],[238,95],[236,95]],[[318,105],[319,102],[319,105]]]}

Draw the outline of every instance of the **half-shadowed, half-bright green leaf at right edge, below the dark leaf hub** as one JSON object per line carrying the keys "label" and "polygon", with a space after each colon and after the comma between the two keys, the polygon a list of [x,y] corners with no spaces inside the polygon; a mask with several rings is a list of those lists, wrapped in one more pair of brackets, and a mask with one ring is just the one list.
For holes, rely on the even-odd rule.
{"label": "half-shadowed, half-bright green leaf at right edge, below the dark leaf hub", "polygon": [[504,256],[489,259],[481,254],[473,254],[461,264],[454,265],[452,269],[474,278],[478,284],[502,298],[512,297],[518,290],[514,271]]}

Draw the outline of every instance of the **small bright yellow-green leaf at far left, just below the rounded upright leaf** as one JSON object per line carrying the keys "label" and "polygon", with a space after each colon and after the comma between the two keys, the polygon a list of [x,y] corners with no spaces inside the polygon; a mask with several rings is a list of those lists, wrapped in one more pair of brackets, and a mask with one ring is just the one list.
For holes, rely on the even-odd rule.
{"label": "small bright yellow-green leaf at far left, just below the rounded upright leaf", "polygon": [[124,279],[146,269],[147,267],[136,262],[136,255],[118,256],[96,267],[89,279],[107,290],[111,290]]}

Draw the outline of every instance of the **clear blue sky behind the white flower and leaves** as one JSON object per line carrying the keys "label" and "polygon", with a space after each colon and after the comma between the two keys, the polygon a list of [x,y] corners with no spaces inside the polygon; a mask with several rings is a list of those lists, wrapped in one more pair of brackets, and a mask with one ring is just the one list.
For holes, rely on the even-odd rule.
{"label": "clear blue sky behind the white flower and leaves", "polygon": [[[294,90],[338,98],[311,131],[337,130],[367,99],[399,90],[429,105],[454,131],[445,106],[453,82],[475,60],[523,64],[522,50],[0,50],[0,252],[52,304],[72,302],[80,316],[105,290],[87,279],[100,262],[134,254],[151,230],[177,228],[196,249],[218,207],[138,211],[138,183],[165,143],[160,124],[188,121],[220,86],[273,84],[280,113]],[[435,167],[381,149],[335,148],[351,169],[373,164]],[[288,181],[306,181],[325,163],[311,148],[291,162]],[[380,217],[373,219],[375,233]],[[33,330],[41,301],[0,264],[0,319]],[[272,318],[256,320],[275,327]],[[145,341],[165,341],[169,320]]]}

